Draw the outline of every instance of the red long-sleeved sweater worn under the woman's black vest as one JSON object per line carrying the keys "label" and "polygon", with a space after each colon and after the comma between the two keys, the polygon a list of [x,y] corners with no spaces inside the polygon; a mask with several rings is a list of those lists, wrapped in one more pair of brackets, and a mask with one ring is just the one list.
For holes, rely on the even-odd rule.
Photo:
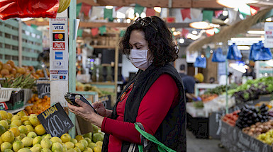
{"label": "red long-sleeved sweater worn under the woman's black vest", "polygon": [[[130,93],[130,91],[128,91]],[[122,141],[140,144],[140,133],[133,123],[123,122],[124,110],[128,93],[116,107],[117,119],[104,118],[101,131],[110,134],[108,151],[121,151]],[[179,91],[177,85],[169,74],[162,74],[152,84],[140,103],[136,122],[143,124],[145,131],[155,134],[170,107],[178,105]]]}

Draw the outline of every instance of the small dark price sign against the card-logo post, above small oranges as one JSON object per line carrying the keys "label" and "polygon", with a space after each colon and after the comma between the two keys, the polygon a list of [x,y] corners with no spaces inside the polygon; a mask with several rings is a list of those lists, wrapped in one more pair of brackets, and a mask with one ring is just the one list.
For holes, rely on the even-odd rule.
{"label": "small dark price sign against the card-logo post, above small oranges", "polygon": [[43,98],[45,95],[50,97],[50,81],[49,80],[37,80],[36,85],[38,90],[38,98]]}

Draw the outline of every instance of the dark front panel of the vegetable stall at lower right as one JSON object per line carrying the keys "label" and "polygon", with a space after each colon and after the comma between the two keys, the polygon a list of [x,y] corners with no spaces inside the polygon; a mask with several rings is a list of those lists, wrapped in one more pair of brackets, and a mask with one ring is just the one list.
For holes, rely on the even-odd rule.
{"label": "dark front panel of the vegetable stall at lower right", "polygon": [[262,143],[262,141],[258,141],[252,136],[244,134],[238,127],[231,127],[225,122],[222,122],[221,125],[221,143],[230,152],[272,152],[271,146]]}

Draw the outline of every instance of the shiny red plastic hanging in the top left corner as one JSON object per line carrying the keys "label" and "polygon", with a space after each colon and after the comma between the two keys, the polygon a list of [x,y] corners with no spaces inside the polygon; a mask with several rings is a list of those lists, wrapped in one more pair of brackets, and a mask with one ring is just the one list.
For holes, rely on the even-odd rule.
{"label": "shiny red plastic hanging in the top left corner", "polygon": [[59,0],[1,0],[0,19],[56,18]]}

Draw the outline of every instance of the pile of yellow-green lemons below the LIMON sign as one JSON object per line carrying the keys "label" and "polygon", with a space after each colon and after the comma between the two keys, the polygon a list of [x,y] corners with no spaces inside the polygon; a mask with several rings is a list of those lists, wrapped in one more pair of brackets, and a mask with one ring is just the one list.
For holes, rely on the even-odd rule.
{"label": "pile of yellow-green lemons below the LIMON sign", "polygon": [[0,135],[1,152],[101,152],[103,140],[103,133],[91,132],[75,139],[69,134],[52,137],[37,115],[27,116],[23,111],[13,115],[4,110],[0,110]]}

